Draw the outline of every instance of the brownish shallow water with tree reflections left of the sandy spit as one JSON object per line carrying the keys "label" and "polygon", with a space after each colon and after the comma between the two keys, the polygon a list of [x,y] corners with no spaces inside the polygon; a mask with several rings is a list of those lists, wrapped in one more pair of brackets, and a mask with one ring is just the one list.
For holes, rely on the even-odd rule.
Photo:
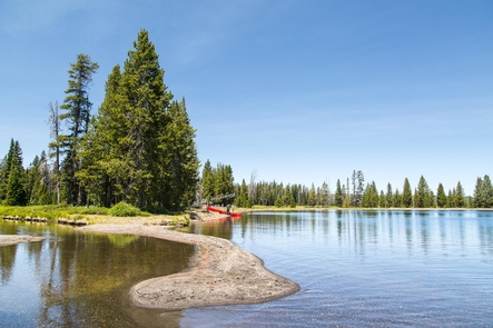
{"label": "brownish shallow water with tree reflections left of the sandy spit", "polygon": [[180,316],[136,308],[128,291],[187,268],[194,246],[4,221],[0,233],[48,238],[0,247],[0,327],[179,327]]}

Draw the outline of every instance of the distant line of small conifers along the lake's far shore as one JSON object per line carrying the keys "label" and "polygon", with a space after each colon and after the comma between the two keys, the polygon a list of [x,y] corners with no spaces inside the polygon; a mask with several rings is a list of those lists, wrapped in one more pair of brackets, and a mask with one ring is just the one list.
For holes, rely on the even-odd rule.
{"label": "distant line of small conifers along the lake's far shore", "polygon": [[[493,187],[490,177],[477,178],[473,197],[466,197],[462,183],[445,192],[442,183],[436,190],[432,190],[426,179],[422,176],[417,186],[411,187],[407,178],[404,179],[403,188],[394,189],[387,183],[385,190],[377,189],[374,181],[365,183],[362,171],[353,171],[345,183],[337,180],[334,189],[326,182],[321,187],[304,185],[283,185],[273,182],[255,181],[255,173],[247,185],[245,180],[234,186],[235,198],[221,203],[233,202],[237,207],[276,206],[276,207],[341,207],[341,208],[493,208]],[[207,182],[211,185],[210,181]],[[204,185],[204,180],[203,180]],[[207,187],[215,190],[215,187]],[[220,195],[209,191],[210,198]]]}

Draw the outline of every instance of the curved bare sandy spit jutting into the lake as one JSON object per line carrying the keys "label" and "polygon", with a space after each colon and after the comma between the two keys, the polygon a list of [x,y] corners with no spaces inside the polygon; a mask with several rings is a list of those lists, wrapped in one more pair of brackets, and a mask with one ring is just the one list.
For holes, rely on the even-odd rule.
{"label": "curved bare sandy spit jutting into the lake", "polygon": [[187,271],[145,280],[131,288],[130,297],[140,307],[180,310],[257,304],[299,290],[296,282],[270,272],[258,257],[225,239],[144,225],[96,225],[77,229],[148,236],[199,247]]}

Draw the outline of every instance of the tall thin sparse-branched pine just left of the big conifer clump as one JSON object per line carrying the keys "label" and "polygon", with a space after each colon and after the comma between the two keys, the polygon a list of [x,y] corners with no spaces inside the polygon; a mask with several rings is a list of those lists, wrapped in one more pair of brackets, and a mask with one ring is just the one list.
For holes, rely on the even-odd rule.
{"label": "tall thin sparse-branched pine just left of the big conifer clump", "polygon": [[76,178],[80,163],[77,159],[81,138],[89,128],[90,111],[92,103],[89,101],[89,86],[92,82],[92,74],[98,70],[99,64],[91,61],[87,54],[78,54],[77,62],[70,64],[68,80],[69,88],[65,91],[67,98],[60,109],[66,112],[60,115],[60,121],[66,122],[69,129],[68,135],[58,136],[58,145],[66,152],[65,172],[67,181],[67,202],[72,203],[77,198],[77,203],[82,201],[82,190]]}

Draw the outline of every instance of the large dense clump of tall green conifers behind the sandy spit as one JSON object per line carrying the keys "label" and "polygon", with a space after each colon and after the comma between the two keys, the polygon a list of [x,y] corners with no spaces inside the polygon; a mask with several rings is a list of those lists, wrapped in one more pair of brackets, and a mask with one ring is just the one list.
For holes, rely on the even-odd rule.
{"label": "large dense clump of tall green conifers behind the sandy spit", "polygon": [[81,141],[77,178],[95,202],[179,210],[198,182],[195,129],[185,105],[172,101],[148,32],[140,30],[124,70],[116,66],[106,97]]}

